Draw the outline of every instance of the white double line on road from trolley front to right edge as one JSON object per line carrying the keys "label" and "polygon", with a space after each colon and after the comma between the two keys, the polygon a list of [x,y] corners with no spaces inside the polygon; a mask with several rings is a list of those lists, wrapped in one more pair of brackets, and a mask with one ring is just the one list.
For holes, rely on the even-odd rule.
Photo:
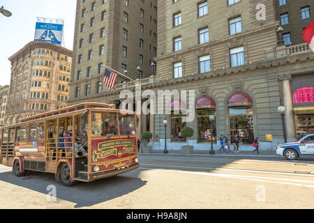
{"label": "white double line on road from trolley front to right edge", "polygon": [[[140,169],[150,169],[150,168],[140,167]],[[294,186],[299,186],[299,187],[313,187],[314,188],[314,185],[301,184],[301,183],[313,183],[314,184],[314,181],[311,181],[311,180],[292,180],[292,179],[283,179],[283,178],[269,178],[269,177],[262,177],[262,176],[200,173],[200,172],[193,172],[193,171],[177,171],[177,170],[169,170],[169,169],[167,170],[159,169],[159,170],[174,171],[177,173],[185,173],[185,174],[216,176],[216,177],[223,177],[223,178],[235,178],[235,179],[240,179],[240,180],[251,180],[251,181],[266,182],[266,183],[279,183],[279,184],[284,184],[284,185],[294,185]],[[299,183],[281,182],[281,181],[274,181],[274,180],[293,181],[293,182],[299,182]]]}

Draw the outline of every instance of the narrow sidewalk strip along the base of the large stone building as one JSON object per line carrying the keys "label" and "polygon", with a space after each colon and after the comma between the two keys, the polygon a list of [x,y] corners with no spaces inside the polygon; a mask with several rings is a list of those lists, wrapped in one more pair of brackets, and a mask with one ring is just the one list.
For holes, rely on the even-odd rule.
{"label": "narrow sidewalk strip along the base of the large stone building", "polygon": [[[152,153],[139,153],[139,155],[164,155],[163,150],[161,151],[153,151]],[[209,151],[193,151],[193,154],[181,153],[181,151],[168,151],[166,155],[210,155]],[[259,154],[252,151],[240,151],[235,154],[233,151],[231,153],[224,154],[223,151],[215,151],[215,155],[212,156],[241,156],[241,157],[283,157],[281,155],[277,155],[276,151],[259,151]]]}

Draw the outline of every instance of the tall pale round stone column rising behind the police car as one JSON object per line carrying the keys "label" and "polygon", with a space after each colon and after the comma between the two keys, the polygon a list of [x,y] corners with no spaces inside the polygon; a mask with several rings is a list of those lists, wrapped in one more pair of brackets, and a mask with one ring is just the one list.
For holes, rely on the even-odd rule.
{"label": "tall pale round stone column rising behind the police car", "polygon": [[292,105],[292,94],[290,88],[290,74],[284,74],[279,77],[279,80],[283,82],[283,105],[287,109],[285,112],[285,132],[287,133],[287,141],[295,141],[295,125],[294,125],[294,114]]}

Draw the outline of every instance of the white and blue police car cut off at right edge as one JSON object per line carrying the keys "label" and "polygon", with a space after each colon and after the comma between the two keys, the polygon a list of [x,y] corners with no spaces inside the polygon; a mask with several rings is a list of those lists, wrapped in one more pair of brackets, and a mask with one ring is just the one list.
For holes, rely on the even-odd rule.
{"label": "white and blue police car cut off at right edge", "polygon": [[279,144],[276,150],[287,160],[296,160],[297,157],[314,156],[314,134],[307,134],[297,142]]}

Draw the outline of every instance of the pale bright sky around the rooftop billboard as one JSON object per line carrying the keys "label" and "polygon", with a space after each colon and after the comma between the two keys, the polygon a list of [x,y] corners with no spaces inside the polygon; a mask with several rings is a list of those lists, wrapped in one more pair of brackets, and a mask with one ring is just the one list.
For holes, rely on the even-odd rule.
{"label": "pale bright sky around the rooftop billboard", "polygon": [[0,13],[0,86],[10,84],[8,58],[33,41],[36,17],[63,19],[64,47],[73,49],[76,0],[0,0],[1,6],[12,16]]}

